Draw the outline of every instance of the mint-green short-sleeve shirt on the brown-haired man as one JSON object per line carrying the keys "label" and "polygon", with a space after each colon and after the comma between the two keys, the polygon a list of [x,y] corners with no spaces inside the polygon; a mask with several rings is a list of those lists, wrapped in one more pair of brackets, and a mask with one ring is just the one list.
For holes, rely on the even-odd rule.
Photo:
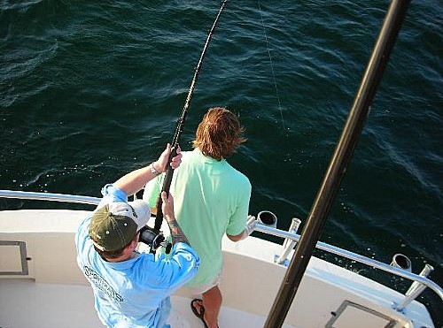
{"label": "mint-green short-sleeve shirt on the brown-haired man", "polygon": [[[200,150],[182,152],[182,164],[171,182],[175,217],[200,256],[198,273],[188,286],[203,286],[221,272],[221,238],[245,229],[251,183],[226,160],[204,156]],[[162,176],[144,188],[144,199],[155,207]]]}

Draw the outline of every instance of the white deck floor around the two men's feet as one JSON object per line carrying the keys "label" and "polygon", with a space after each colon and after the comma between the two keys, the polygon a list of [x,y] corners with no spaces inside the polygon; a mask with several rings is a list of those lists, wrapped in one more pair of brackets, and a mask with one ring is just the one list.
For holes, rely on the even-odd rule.
{"label": "white deck floor around the two men's feet", "polygon": [[[39,284],[31,279],[0,279],[0,290],[1,327],[105,327],[97,317],[89,286]],[[190,309],[189,298],[174,295],[172,303],[171,324],[174,328],[203,327]],[[265,320],[266,317],[222,307],[219,324],[220,327],[256,328],[262,327]],[[295,328],[289,324],[284,327]]]}

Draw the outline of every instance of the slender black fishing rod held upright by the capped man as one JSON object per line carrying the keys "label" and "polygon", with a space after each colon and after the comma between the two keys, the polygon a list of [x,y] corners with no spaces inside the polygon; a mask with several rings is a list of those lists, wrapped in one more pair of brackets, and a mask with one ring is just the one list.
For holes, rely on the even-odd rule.
{"label": "slender black fishing rod held upright by the capped man", "polygon": [[[224,0],[221,3],[221,7],[220,10],[217,14],[217,17],[214,20],[214,24],[213,27],[211,27],[209,34],[207,34],[207,38],[206,38],[206,42],[205,42],[205,46],[203,47],[203,50],[201,52],[200,55],[200,59],[198,60],[198,64],[195,68],[194,71],[194,77],[192,78],[191,82],[190,82],[190,90],[188,92],[188,96],[186,97],[186,101],[184,103],[183,106],[183,111],[182,111],[182,115],[180,116],[180,118],[178,118],[177,120],[177,126],[175,128],[175,134],[174,134],[174,138],[171,142],[171,146],[172,146],[172,151],[171,151],[171,156],[169,156],[169,161],[167,163],[167,172],[165,174],[165,179],[163,180],[163,186],[161,188],[161,191],[166,191],[167,193],[169,193],[169,187],[171,187],[171,181],[172,181],[172,177],[174,174],[174,169],[171,167],[171,165],[169,165],[169,163],[171,162],[171,158],[174,157],[176,155],[176,149],[178,147],[178,141],[180,139],[180,136],[183,132],[183,126],[184,126],[184,122],[186,120],[186,115],[188,113],[188,108],[190,106],[190,98],[192,96],[192,94],[194,93],[194,88],[195,88],[195,84],[197,82],[198,79],[198,73],[200,72],[201,69],[201,65],[203,64],[203,58],[206,55],[206,50],[207,47],[209,45],[209,42],[211,41],[211,38],[213,37],[214,34],[214,30],[215,27],[220,19],[221,16],[221,11],[223,11],[226,3],[228,2],[228,0]],[[159,232],[160,227],[161,227],[161,222],[163,220],[163,212],[161,211],[161,197],[159,196],[158,200],[157,200],[157,215],[155,217],[155,225],[154,225],[154,229],[157,230]]]}

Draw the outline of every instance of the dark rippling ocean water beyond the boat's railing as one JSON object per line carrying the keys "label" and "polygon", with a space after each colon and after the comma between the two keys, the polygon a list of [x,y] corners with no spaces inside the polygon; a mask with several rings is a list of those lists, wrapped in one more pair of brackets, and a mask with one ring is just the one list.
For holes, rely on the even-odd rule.
{"label": "dark rippling ocean water beyond the boat's railing", "polygon": [[[0,188],[99,196],[172,140],[220,1],[0,1]],[[306,221],[387,1],[229,1],[181,138],[227,106],[250,213]],[[443,4],[412,1],[321,240],[443,286]],[[65,206],[51,204],[51,206]],[[45,207],[0,200],[0,209]],[[78,205],[76,205],[78,206]],[[301,230],[300,230],[301,231]],[[261,238],[281,241],[256,233]],[[323,256],[318,254],[318,256]],[[409,283],[346,263],[402,293]],[[443,325],[439,298],[425,291]]]}

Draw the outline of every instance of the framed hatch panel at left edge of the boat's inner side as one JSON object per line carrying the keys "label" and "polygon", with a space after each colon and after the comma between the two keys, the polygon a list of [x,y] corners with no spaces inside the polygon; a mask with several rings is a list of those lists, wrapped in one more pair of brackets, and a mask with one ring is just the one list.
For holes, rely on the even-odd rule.
{"label": "framed hatch panel at left edge of the boat's inner side", "polygon": [[27,276],[25,241],[0,240],[0,276]]}

